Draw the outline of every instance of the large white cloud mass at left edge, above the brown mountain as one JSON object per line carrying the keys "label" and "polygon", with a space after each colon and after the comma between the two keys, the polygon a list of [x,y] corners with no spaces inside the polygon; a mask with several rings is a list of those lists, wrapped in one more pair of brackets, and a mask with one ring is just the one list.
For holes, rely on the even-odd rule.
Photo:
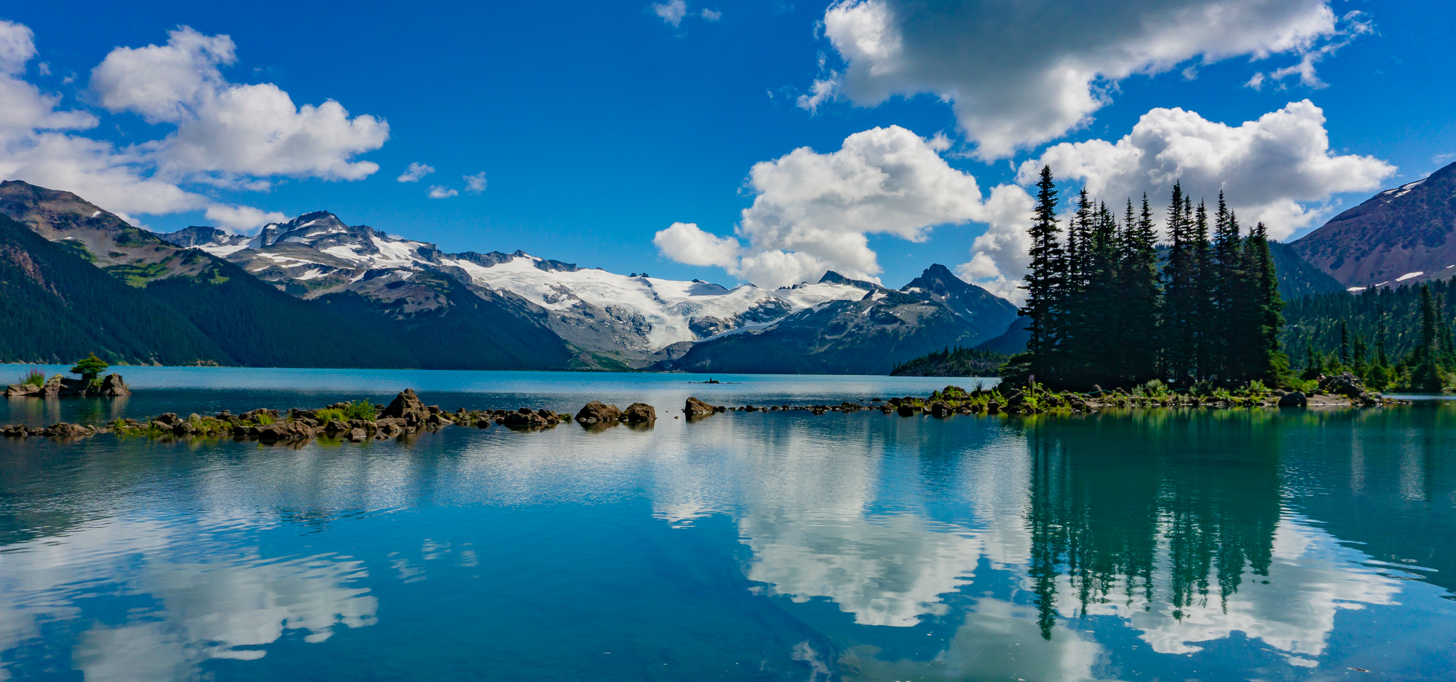
{"label": "large white cloud mass at left edge, above the brown mountain", "polygon": [[349,118],[336,102],[298,108],[271,83],[229,83],[218,67],[236,61],[233,41],[183,26],[166,45],[115,48],[92,71],[105,111],[172,127],[160,140],[116,148],[79,132],[96,128],[96,115],[60,111],[61,96],[25,80],[35,55],[31,29],[0,20],[0,177],[76,192],[121,215],[205,209],[223,227],[256,227],[281,214],[221,204],[189,186],[360,179],[377,166],[354,156],[389,137],[383,121]]}

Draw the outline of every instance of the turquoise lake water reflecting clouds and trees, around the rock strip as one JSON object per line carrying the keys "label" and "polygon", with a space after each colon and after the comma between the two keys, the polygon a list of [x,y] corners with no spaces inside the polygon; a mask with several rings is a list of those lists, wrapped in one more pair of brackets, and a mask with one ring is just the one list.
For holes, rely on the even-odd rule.
{"label": "turquoise lake water reflecting clouds and trees, around the rock strip", "polygon": [[0,441],[0,679],[1456,678],[1449,401],[687,423],[687,396],[948,381],[121,371],[128,400],[0,400],[0,423],[406,385],[448,410],[642,400],[660,419]]}

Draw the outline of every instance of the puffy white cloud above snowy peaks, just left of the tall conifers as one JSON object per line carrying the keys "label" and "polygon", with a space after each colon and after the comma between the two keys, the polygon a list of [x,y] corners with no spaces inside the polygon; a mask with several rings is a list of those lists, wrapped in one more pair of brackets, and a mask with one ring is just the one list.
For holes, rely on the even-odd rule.
{"label": "puffy white cloud above snowy peaks, just left of the tall conifers", "polygon": [[721,266],[760,286],[815,281],[830,269],[877,279],[881,268],[868,236],[922,241],[935,225],[1002,221],[1006,212],[996,206],[1025,196],[1003,186],[983,202],[976,177],[946,164],[941,150],[938,138],[895,125],[849,135],[828,154],[802,147],[748,173],[757,196],[737,227],[747,246],[683,222],[657,233],[654,243],[673,260]]}

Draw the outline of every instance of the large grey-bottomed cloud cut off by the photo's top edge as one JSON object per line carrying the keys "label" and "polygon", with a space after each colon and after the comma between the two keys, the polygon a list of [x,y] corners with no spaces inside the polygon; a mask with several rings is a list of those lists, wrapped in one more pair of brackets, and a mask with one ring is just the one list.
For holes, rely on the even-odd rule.
{"label": "large grey-bottomed cloud cut off by the photo's top edge", "polygon": [[1324,48],[1369,28],[1345,19],[1329,0],[843,0],[826,10],[824,35],[846,67],[805,103],[932,93],[954,103],[978,157],[1000,159],[1088,122],[1133,74],[1291,54],[1309,81]]}

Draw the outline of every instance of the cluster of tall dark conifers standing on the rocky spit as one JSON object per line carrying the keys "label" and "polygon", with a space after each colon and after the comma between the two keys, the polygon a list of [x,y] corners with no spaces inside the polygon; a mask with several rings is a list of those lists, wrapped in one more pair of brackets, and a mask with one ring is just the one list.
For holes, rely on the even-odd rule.
{"label": "cluster of tall dark conifers standing on the rocky spit", "polygon": [[1057,204],[1051,167],[1042,167],[1022,286],[1029,339],[1005,378],[1073,390],[1289,378],[1278,339],[1284,304],[1262,222],[1245,234],[1222,192],[1210,212],[1175,183],[1163,259],[1146,195],[1118,217],[1083,189],[1064,230]]}

